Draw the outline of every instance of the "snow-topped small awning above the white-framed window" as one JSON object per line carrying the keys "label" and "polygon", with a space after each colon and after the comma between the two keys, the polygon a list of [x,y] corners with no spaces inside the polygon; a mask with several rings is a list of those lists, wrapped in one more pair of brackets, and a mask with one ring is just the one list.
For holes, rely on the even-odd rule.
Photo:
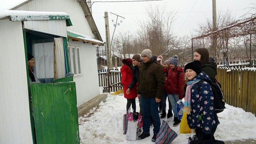
{"label": "snow-topped small awning above the white-framed window", "polygon": [[98,45],[104,44],[102,41],[99,41],[91,36],[87,36],[70,30],[67,30],[67,35],[70,39],[75,41],[83,41],[84,43],[92,43]]}

